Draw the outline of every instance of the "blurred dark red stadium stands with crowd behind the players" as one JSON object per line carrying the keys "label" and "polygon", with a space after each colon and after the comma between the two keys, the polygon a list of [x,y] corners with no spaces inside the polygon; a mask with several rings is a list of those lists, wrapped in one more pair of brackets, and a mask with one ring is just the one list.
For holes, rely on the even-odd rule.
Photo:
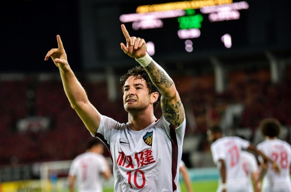
{"label": "blurred dark red stadium stands with crowd behind the players", "polygon": [[[256,144],[255,133],[262,118],[277,118],[287,132],[283,140],[291,141],[291,65],[282,80],[274,84],[269,69],[242,69],[228,73],[225,91],[215,91],[214,74],[173,76],[187,113],[186,138],[200,135],[198,151],[209,151],[207,129],[225,121],[229,106],[239,104],[242,110],[231,116],[224,129],[234,135],[248,130],[248,138]],[[88,81],[78,75],[89,100],[104,115],[127,122],[122,93],[115,101],[108,99],[106,81]],[[40,80],[37,75],[0,81],[0,165],[53,160],[71,160],[84,151],[90,133],[71,108],[59,79]],[[115,110],[112,110],[115,109]],[[160,109],[156,111],[161,115]],[[49,124],[29,121],[22,129],[19,120],[45,117]],[[108,152],[105,156],[109,156]]]}

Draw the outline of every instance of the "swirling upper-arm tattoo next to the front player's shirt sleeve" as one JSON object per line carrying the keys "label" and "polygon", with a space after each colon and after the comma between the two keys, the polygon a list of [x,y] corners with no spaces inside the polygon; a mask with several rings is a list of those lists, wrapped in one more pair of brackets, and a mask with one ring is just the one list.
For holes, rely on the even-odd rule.
{"label": "swirling upper-arm tattoo next to the front player's shirt sleeve", "polygon": [[179,127],[183,123],[185,117],[185,112],[181,101],[179,100],[177,103],[172,105],[168,104],[168,100],[164,97],[161,101],[165,119],[175,128]]}

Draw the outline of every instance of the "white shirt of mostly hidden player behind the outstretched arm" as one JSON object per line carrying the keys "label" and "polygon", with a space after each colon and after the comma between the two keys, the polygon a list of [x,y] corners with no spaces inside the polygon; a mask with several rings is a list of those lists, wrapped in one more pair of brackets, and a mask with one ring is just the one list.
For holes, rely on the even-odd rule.
{"label": "white shirt of mostly hidden player behind the outstretched arm", "polygon": [[242,151],[241,158],[242,158],[242,167],[244,169],[244,172],[246,173],[246,177],[248,180],[248,186],[250,188],[250,191],[253,192],[254,190],[253,190],[253,182],[251,179],[251,174],[258,172],[257,160],[252,153],[249,153],[247,151]]}

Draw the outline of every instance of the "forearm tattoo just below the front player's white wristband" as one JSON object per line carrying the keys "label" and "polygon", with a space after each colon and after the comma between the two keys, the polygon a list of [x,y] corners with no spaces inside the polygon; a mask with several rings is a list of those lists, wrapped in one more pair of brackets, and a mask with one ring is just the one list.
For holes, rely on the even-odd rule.
{"label": "forearm tattoo just below the front player's white wristband", "polygon": [[159,69],[154,61],[150,62],[150,64],[145,67],[145,70],[148,71],[152,82],[157,86],[157,88],[160,89],[160,85],[163,84],[165,88],[169,88],[173,85],[172,79],[168,76],[168,74],[166,74],[164,70]]}

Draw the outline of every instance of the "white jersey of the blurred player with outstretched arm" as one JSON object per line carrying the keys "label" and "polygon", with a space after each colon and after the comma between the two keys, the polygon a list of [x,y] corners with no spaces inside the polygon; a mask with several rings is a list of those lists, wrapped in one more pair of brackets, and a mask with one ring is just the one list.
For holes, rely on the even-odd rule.
{"label": "white jersey of the blurred player with outstretched arm", "polygon": [[[219,160],[224,160],[226,167],[226,191],[249,192],[245,172],[242,167],[241,152],[250,145],[240,137],[222,137],[211,144],[214,163],[219,167]],[[221,191],[221,178],[217,192]]]}

